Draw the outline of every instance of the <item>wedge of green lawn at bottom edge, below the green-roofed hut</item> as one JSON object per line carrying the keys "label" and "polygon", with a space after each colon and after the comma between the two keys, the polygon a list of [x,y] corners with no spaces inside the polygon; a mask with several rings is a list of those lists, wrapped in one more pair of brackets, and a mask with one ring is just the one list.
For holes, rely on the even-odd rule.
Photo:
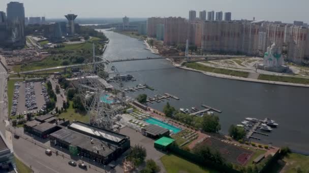
{"label": "wedge of green lawn at bottom edge, below the green-roofed hut", "polygon": [[218,172],[212,169],[207,169],[200,167],[194,163],[177,157],[173,154],[165,155],[161,157],[161,162],[163,163],[166,171],[168,173],[178,173],[178,172],[194,172],[194,173],[205,173],[205,172]]}

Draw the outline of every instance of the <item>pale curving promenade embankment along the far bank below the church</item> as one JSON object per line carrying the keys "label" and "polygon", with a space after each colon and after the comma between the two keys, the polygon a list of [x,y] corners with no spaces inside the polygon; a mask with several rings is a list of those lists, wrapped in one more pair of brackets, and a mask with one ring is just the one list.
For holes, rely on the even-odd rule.
{"label": "pale curving promenade embankment along the far bank below the church", "polygon": [[212,76],[212,77],[226,78],[226,79],[232,79],[232,80],[242,80],[242,81],[249,81],[249,82],[259,82],[259,83],[267,83],[267,84],[277,84],[277,85],[298,86],[298,87],[309,88],[309,84],[288,83],[288,82],[280,82],[280,81],[269,81],[269,80],[245,78],[245,77],[240,77],[240,76],[232,76],[232,75],[226,75],[226,74],[206,72],[206,71],[202,71],[202,70],[196,70],[196,69],[193,69],[193,68],[184,67],[184,66],[181,66],[179,64],[174,64],[174,63],[172,63],[172,64],[176,68],[181,68],[181,69],[184,69],[184,70],[200,72],[200,73],[203,73],[203,74],[205,74],[207,76]]}

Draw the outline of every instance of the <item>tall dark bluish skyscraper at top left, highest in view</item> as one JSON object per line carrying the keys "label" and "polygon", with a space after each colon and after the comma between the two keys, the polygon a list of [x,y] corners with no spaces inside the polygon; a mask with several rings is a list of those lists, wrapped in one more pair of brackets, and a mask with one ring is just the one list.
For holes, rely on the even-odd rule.
{"label": "tall dark bluish skyscraper at top left, highest in view", "polygon": [[26,42],[24,35],[25,12],[22,3],[7,4],[8,41],[14,47],[23,47]]}

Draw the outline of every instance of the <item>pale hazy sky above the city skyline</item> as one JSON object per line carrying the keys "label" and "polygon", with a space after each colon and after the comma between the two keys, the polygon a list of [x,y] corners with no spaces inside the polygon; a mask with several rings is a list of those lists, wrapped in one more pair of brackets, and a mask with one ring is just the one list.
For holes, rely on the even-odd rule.
{"label": "pale hazy sky above the city skyline", "polygon": [[[232,12],[232,19],[264,19],[309,23],[309,0],[16,0],[24,3],[25,15],[64,18],[75,13],[87,17],[181,16],[189,10]],[[8,0],[0,0],[0,11],[6,11]]]}

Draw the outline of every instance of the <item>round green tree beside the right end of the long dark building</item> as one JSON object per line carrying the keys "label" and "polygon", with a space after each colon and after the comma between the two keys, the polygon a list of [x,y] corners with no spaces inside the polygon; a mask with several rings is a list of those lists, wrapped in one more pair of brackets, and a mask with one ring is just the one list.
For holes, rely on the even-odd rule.
{"label": "round green tree beside the right end of the long dark building", "polygon": [[132,161],[137,167],[145,160],[146,156],[146,149],[140,145],[135,145],[131,148],[128,160]]}

